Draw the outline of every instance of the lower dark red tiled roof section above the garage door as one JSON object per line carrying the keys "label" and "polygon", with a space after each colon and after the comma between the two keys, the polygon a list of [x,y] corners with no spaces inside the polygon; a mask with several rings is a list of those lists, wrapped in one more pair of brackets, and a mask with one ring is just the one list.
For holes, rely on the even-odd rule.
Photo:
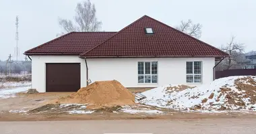
{"label": "lower dark red tiled roof section above the garage door", "polygon": [[25,52],[26,55],[82,54],[116,32],[71,32]]}

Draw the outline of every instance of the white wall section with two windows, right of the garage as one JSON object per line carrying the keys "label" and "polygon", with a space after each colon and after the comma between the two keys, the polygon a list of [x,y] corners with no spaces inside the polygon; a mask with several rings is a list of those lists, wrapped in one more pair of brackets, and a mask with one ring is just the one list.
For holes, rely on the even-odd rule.
{"label": "white wall section with two windows, right of the garage", "polygon": [[[158,62],[158,84],[137,83],[137,62],[148,61]],[[201,61],[203,67],[202,83],[212,82],[214,79],[214,58],[92,58],[87,59],[88,78],[92,82],[118,80],[128,88],[188,84],[186,82],[186,62],[188,61]]]}

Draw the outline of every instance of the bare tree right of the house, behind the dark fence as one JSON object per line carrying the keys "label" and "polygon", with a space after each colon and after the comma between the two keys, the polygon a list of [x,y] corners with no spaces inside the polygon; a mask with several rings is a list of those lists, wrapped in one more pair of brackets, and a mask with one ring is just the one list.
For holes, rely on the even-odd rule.
{"label": "bare tree right of the house, behind the dark fence", "polygon": [[245,52],[244,44],[234,42],[234,39],[235,37],[232,36],[230,42],[221,47],[221,50],[230,54],[230,57],[225,58],[223,62],[223,66],[226,70],[229,70],[234,65],[241,64],[243,60],[245,60],[245,56],[243,55]]}

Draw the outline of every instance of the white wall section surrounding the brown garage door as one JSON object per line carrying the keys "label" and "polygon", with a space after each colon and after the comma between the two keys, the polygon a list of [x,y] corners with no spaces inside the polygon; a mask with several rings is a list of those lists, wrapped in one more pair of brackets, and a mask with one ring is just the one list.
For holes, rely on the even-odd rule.
{"label": "white wall section surrounding the brown garage door", "polygon": [[86,63],[78,56],[32,56],[32,88],[46,91],[46,63],[80,63],[81,87],[86,86]]}

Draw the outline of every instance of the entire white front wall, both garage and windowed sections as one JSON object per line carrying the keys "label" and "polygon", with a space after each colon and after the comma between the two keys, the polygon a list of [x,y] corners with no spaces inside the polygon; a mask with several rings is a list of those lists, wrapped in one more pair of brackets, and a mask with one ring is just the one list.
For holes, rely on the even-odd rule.
{"label": "entire white front wall, both garage and windowed sections", "polygon": [[[158,62],[158,84],[137,83],[137,62]],[[214,58],[92,58],[88,62],[88,78],[118,80],[128,88],[157,87],[165,84],[188,84],[186,62],[202,62],[202,83],[213,80]],[[78,56],[32,56],[32,88],[46,90],[46,63],[80,63],[81,87],[86,86],[86,63]],[[198,85],[198,84],[191,84]]]}

